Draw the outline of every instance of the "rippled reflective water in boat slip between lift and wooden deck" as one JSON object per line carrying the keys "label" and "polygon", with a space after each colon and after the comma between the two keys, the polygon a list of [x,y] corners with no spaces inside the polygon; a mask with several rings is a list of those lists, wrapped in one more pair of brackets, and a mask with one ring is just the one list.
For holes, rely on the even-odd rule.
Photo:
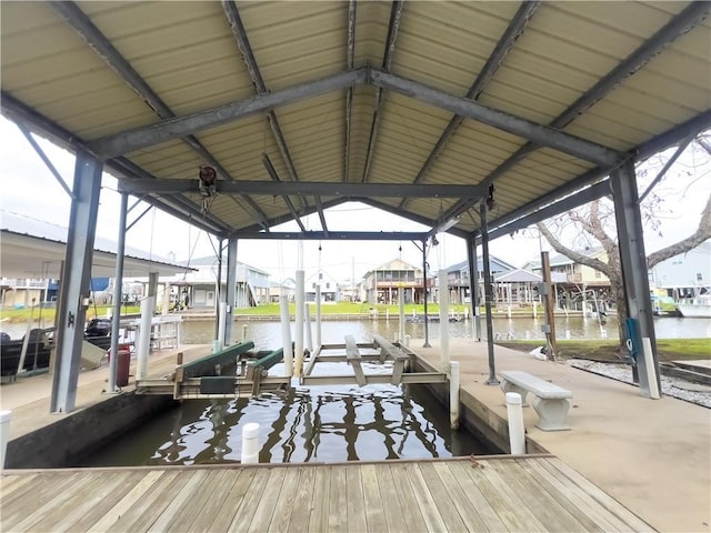
{"label": "rippled reflective water in boat slip between lift and wooden deck", "polygon": [[[143,464],[206,464],[239,461],[244,424],[260,424],[263,463],[423,459],[488,453],[467,432],[452,435],[445,416],[408,390],[292,389],[248,400],[211,401],[192,421],[174,415],[172,431]],[[438,406],[438,410],[441,409]],[[123,444],[126,445],[126,444]],[[131,445],[140,446],[138,443]]]}

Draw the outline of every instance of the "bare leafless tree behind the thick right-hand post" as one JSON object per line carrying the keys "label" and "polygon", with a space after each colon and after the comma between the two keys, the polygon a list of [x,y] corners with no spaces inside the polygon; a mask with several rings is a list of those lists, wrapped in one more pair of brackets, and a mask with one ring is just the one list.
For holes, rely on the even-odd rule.
{"label": "bare leafless tree behind the thick right-hand post", "polygon": [[[694,139],[695,144],[705,154],[711,157],[711,140],[709,133],[702,133]],[[642,220],[648,228],[659,231],[660,220],[658,213],[663,199],[657,194],[649,194],[642,203]],[[618,312],[618,329],[620,343],[625,338],[624,319],[628,315],[627,301],[622,284],[622,266],[620,264],[620,247],[614,233],[614,210],[612,202],[608,199],[595,200],[594,202],[569,211],[568,213],[548,222],[538,224],[538,229],[545,237],[550,245],[559,253],[568,257],[577,263],[584,264],[598,270],[610,280],[610,298],[614,300]],[[574,228],[574,231],[571,230]],[[573,245],[563,244],[561,237],[563,230],[568,234],[573,234]],[[688,252],[702,242],[711,239],[711,195],[707,199],[705,207],[701,212],[699,225],[695,231],[685,239],[671,244],[662,250],[650,253],[647,257],[647,268],[651,269],[660,262]],[[574,243],[599,243],[605,252],[607,262],[581,253],[575,250]],[[581,247],[582,248],[582,247]]]}

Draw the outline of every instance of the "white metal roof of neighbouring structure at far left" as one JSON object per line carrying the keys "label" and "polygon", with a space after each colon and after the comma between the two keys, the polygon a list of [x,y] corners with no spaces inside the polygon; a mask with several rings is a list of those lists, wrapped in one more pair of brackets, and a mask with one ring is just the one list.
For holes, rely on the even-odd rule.
{"label": "white metal roof of neighbouring structure at far left", "polygon": [[[2,212],[0,218],[0,272],[10,279],[60,279],[67,251],[67,228],[49,222]],[[97,237],[91,273],[97,278],[116,274],[117,244]],[[171,263],[148,252],[127,247],[123,272],[127,276],[182,274],[196,269]]]}

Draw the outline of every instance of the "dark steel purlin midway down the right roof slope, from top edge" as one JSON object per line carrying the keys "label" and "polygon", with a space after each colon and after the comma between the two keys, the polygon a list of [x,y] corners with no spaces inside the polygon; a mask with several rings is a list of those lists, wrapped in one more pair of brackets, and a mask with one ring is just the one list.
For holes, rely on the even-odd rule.
{"label": "dark steel purlin midway down the right roof slope, from top edge", "polygon": [[[509,22],[509,26],[501,36],[501,39],[499,39],[499,42],[491,52],[491,56],[489,56],[489,59],[482,67],[472,86],[467,91],[464,98],[469,98],[470,100],[479,99],[491,78],[493,78],[493,74],[497,72],[497,70],[499,70],[499,67],[503,62],[503,59],[511,51],[519,37],[521,37],[521,34],[523,33],[523,30],[528,26],[529,20],[531,20],[533,14],[535,14],[535,11],[538,11],[540,3],[541,2],[538,0],[524,1],[521,3],[519,10],[513,16],[513,19],[511,19],[511,22]],[[418,172],[418,175],[413,181],[414,183],[420,183],[422,180],[424,180],[428,172],[434,164],[434,161],[437,161],[437,158],[440,157],[440,154],[444,150],[444,147],[463,121],[464,117],[461,117],[459,114],[452,117],[452,119],[449,121],[449,124],[447,124],[447,128],[444,128],[442,135],[439,138],[439,140],[434,144],[434,148],[424,161],[424,164]],[[404,208],[407,203],[408,199],[404,198],[402,202],[400,202],[400,207]]]}

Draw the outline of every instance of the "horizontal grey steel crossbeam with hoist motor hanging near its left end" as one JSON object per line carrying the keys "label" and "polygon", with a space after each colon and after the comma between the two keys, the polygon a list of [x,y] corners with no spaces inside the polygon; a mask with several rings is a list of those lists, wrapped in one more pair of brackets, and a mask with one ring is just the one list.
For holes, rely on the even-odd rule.
{"label": "horizontal grey steel crossbeam with hoist motor hanging near its left end", "polygon": [[[121,180],[119,192],[131,194],[182,194],[197,193],[197,180]],[[482,185],[448,185],[423,183],[342,183],[324,181],[220,181],[218,194],[264,194],[282,195],[321,195],[321,197],[382,197],[402,198],[482,198],[485,194]]]}

